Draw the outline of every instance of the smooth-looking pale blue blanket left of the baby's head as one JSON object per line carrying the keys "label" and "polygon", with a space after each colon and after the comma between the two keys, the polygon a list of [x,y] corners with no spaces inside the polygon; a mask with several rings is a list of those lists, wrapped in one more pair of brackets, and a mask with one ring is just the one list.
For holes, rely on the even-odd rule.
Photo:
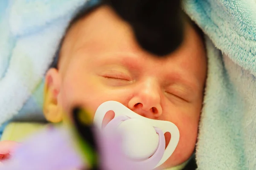
{"label": "smooth-looking pale blue blanket left of the baby's head", "polygon": [[0,125],[44,120],[44,74],[78,8],[99,0],[0,1]]}

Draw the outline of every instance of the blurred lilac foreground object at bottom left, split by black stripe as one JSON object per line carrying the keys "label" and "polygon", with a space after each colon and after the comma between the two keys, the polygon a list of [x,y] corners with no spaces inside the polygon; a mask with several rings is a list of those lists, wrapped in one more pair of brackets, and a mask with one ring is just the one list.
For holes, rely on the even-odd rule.
{"label": "blurred lilac foreground object at bottom left, split by black stripe", "polygon": [[[0,170],[86,170],[86,164],[76,152],[76,140],[65,128],[42,130],[17,147]],[[122,152],[121,136],[117,133],[96,133],[101,170],[150,170],[134,164]],[[145,169],[146,168],[146,169]]]}

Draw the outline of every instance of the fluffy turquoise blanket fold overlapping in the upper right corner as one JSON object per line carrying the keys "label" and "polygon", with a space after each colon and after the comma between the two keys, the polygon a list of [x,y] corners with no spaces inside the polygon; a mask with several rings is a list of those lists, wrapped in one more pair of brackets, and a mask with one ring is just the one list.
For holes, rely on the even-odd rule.
{"label": "fluffy turquoise blanket fold overlapping in the upper right corner", "polygon": [[255,0],[184,0],[184,9],[218,49],[256,75]]}

